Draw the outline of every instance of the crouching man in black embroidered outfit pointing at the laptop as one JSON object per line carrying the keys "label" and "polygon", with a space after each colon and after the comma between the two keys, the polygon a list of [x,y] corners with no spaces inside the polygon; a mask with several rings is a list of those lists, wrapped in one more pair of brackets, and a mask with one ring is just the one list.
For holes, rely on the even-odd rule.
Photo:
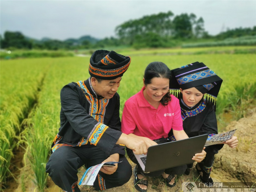
{"label": "crouching man in black embroidered outfit pointing at the laptop", "polygon": [[142,154],[155,144],[120,131],[117,89],[130,62],[130,57],[114,51],[95,51],[90,58],[91,77],[61,89],[61,126],[53,141],[46,172],[64,191],[80,191],[78,168],[108,161],[122,162],[102,167],[93,186],[104,190],[123,185],[132,174],[123,145]]}

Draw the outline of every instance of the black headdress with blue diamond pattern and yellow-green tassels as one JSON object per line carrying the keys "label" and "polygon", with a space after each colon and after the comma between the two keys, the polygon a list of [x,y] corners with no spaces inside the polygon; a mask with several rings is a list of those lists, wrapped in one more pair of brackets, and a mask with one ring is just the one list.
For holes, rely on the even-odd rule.
{"label": "black headdress with blue diamond pattern and yellow-green tassels", "polygon": [[195,87],[205,94],[205,99],[216,104],[216,97],[220,91],[222,79],[202,62],[194,62],[172,70],[170,92],[178,97],[180,89]]}

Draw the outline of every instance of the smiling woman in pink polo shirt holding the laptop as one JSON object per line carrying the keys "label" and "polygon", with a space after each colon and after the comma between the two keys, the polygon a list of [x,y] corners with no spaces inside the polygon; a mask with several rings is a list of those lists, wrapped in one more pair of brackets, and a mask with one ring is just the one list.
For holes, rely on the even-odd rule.
{"label": "smiling woman in pink polo shirt holding the laptop", "polygon": [[[121,120],[121,131],[134,137],[142,136],[156,142],[166,143],[168,133],[173,130],[176,140],[188,138],[182,127],[181,109],[179,99],[169,92],[169,79],[171,71],[162,62],[151,62],[145,69],[143,88],[130,97],[124,105]],[[205,151],[193,156],[193,160],[201,162],[205,158]],[[127,149],[127,155],[137,165],[134,168],[134,184],[138,191],[146,192],[147,176],[162,175],[166,185],[173,187],[175,176],[183,174],[186,165],[169,168],[166,170],[144,173],[139,166],[133,151]],[[140,181],[141,180],[141,181]]]}

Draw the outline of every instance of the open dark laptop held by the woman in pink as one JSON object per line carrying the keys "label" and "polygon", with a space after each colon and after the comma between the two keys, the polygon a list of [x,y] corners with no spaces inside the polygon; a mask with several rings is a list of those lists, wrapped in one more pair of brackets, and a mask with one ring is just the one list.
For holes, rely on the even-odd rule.
{"label": "open dark laptop held by the woman in pink", "polygon": [[208,135],[199,135],[148,147],[146,155],[134,154],[145,173],[193,163],[192,157],[201,153]]}

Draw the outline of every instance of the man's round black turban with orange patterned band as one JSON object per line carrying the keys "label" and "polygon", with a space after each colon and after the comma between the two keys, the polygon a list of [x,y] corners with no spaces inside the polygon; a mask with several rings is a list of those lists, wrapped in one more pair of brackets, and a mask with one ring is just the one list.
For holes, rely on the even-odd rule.
{"label": "man's round black turban with orange patterned band", "polygon": [[120,55],[115,51],[97,50],[90,58],[89,74],[95,78],[112,80],[123,76],[130,62],[129,56]]}

